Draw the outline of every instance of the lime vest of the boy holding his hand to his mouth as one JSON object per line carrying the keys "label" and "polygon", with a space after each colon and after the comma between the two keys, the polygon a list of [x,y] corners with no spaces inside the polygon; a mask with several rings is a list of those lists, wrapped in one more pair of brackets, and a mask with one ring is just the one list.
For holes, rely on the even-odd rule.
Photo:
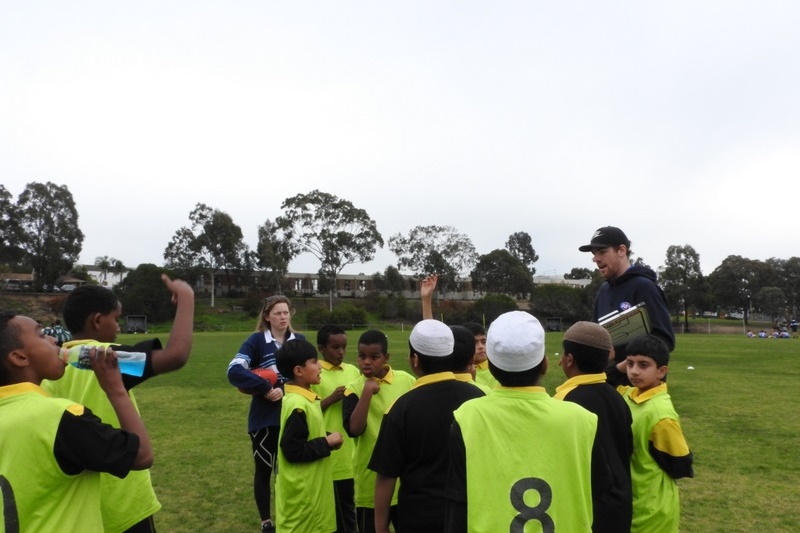
{"label": "lime vest of the boy holding his hand to his mouth", "polygon": [[[383,414],[392,406],[394,401],[411,390],[416,379],[408,372],[402,370],[392,370],[386,373],[381,380],[381,390],[372,396],[369,403],[367,414],[367,427],[364,432],[355,437],[353,451],[353,469],[355,479],[356,507],[375,507],[375,479],[378,477],[375,472],[367,468],[372,457],[372,450],[378,440],[378,431],[381,428]],[[345,394],[355,394],[361,398],[364,390],[366,378],[360,375],[359,378],[347,386]],[[394,495],[392,495],[392,505],[397,505],[397,491],[400,484],[396,483]]]}

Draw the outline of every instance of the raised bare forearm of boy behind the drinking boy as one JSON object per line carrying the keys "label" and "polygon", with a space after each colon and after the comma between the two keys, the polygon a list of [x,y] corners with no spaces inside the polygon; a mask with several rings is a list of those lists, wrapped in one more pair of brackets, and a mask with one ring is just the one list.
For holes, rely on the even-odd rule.
{"label": "raised bare forearm of boy behind the drinking boy", "polygon": [[167,346],[153,352],[153,372],[163,374],[178,370],[189,360],[192,350],[192,332],[194,328],[194,291],[183,280],[170,279],[166,274],[161,280],[172,293],[172,303],[176,304],[175,320],[169,333]]}

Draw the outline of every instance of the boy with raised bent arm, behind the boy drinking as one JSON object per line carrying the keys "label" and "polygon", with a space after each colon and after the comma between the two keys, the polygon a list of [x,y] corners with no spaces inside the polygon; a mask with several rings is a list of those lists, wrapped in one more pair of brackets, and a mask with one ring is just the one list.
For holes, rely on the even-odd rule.
{"label": "boy with raised bent arm, behind the boy drinking", "polygon": [[[122,375],[125,390],[135,405],[133,388],[153,376],[178,370],[189,360],[194,326],[194,291],[185,281],[161,275],[176,305],[167,345],[157,338],[133,346],[116,342],[122,305],[117,296],[100,285],[81,285],[64,300],[63,317],[73,340],[65,348],[82,344],[110,346],[119,351],[144,352],[147,356],[141,377]],[[58,381],[44,381],[42,388],[53,396],[68,398],[92,410],[102,420],[120,427],[114,406],[92,372],[67,366]],[[150,472],[131,472],[124,479],[101,474],[103,525],[107,533],[150,533],[155,531],[153,515],[161,508],[150,481]]]}

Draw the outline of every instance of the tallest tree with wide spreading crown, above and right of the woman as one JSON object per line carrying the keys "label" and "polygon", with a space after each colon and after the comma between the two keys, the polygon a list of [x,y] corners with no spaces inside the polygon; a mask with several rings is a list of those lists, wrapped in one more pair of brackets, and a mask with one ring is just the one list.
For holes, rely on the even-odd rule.
{"label": "tallest tree with wide spreading crown, above and right of the woman", "polygon": [[[285,199],[281,209],[284,214],[275,224],[283,240],[319,259],[331,289],[344,267],[371,261],[375,250],[383,247],[383,237],[367,212],[332,194],[315,189]],[[329,294],[332,310],[333,290]]]}

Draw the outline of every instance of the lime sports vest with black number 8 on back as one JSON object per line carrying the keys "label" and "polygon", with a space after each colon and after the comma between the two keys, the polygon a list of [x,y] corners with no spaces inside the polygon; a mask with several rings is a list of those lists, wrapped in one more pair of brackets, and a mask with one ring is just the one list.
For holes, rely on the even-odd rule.
{"label": "lime sports vest with black number 8 on back", "polygon": [[591,531],[596,415],[542,387],[500,387],[454,415],[469,531]]}

